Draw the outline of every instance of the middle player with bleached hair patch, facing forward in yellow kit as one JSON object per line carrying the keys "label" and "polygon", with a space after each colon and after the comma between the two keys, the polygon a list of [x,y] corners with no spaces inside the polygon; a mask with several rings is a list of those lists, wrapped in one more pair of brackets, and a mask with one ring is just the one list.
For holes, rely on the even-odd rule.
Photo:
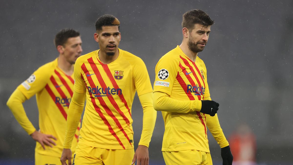
{"label": "middle player with bleached hair patch, facing forward in yellow kit", "polygon": [[[156,121],[152,87],[146,65],[139,57],[118,48],[120,22],[112,15],[96,21],[94,39],[99,50],[83,55],[74,66],[74,94],[69,106],[61,162],[71,159],[74,130],[84,107],[73,164],[149,164],[148,147]],[[143,107],[143,128],[134,153],[132,102],[135,92]],[[71,162],[69,162],[71,164]]]}

